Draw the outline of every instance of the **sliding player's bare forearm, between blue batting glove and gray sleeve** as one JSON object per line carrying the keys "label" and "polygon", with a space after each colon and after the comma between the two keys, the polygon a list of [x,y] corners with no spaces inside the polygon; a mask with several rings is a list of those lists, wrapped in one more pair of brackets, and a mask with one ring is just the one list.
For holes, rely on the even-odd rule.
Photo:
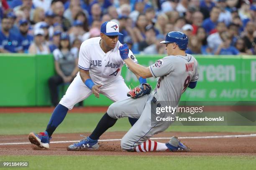
{"label": "sliding player's bare forearm, between blue batting glove and gray sleeve", "polygon": [[144,67],[142,65],[139,65],[139,64],[133,62],[133,60],[131,60],[131,58],[127,58],[123,61],[126,63],[126,65],[128,65],[129,69],[134,74],[139,75],[142,78],[153,77],[148,67]]}

